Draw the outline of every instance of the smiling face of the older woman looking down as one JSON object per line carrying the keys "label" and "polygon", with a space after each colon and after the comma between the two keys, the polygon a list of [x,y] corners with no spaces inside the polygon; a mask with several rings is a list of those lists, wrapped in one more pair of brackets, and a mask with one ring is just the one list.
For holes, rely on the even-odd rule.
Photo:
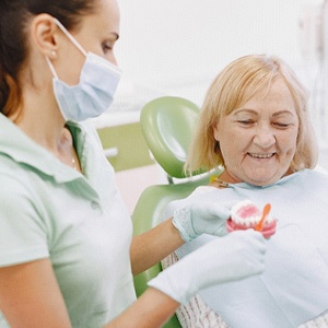
{"label": "smiling face of the older woman looking down", "polygon": [[295,105],[282,79],[266,92],[263,89],[214,128],[226,181],[266,186],[289,174],[298,133]]}

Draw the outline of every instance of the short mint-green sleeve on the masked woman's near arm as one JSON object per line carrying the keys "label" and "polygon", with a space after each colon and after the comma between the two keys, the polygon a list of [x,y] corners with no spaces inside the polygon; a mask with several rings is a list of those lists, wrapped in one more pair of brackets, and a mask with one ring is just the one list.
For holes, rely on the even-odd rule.
{"label": "short mint-green sleeve on the masked woman's near arm", "polygon": [[48,257],[46,229],[28,186],[3,175],[0,185],[0,267]]}

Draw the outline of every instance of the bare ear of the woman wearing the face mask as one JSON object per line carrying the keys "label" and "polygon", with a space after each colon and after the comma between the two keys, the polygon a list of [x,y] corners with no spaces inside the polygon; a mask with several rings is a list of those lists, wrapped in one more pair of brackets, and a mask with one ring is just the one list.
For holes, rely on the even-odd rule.
{"label": "bare ear of the woman wearing the face mask", "polygon": [[31,38],[36,49],[49,58],[56,57],[60,32],[49,14],[36,15],[31,24]]}

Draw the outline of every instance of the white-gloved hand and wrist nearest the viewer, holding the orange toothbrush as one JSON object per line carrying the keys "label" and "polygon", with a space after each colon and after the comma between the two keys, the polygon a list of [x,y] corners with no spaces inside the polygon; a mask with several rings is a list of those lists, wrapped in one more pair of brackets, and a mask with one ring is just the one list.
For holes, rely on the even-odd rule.
{"label": "white-gloved hand and wrist nearest the viewer, holding the orange toothbrush", "polygon": [[261,273],[266,250],[261,233],[236,231],[188,254],[149,285],[184,304],[201,289]]}

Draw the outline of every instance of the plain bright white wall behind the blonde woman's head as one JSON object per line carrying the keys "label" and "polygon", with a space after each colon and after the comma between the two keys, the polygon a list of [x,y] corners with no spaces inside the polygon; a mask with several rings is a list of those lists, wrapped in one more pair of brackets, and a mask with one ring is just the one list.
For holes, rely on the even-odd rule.
{"label": "plain bright white wall behind the blonde woman's head", "polygon": [[[300,17],[320,0],[118,0],[121,89],[136,101],[152,94],[200,104],[230,61],[251,52],[274,54],[304,74]],[[304,42],[304,39],[303,39]],[[305,40],[308,43],[308,39]],[[304,43],[303,43],[304,45]],[[301,72],[302,70],[302,72]],[[129,84],[132,82],[133,84]],[[304,81],[308,79],[304,78]],[[137,90],[133,89],[137,86]],[[139,91],[139,92],[138,92]]]}

